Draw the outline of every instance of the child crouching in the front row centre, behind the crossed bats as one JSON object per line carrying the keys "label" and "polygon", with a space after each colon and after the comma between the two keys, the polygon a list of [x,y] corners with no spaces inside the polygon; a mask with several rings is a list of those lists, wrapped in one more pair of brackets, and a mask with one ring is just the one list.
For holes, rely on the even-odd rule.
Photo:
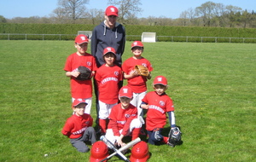
{"label": "child crouching in the front row centre, behind the crossed bats", "polygon": [[137,119],[137,107],[131,105],[132,90],[128,86],[123,86],[119,90],[120,103],[115,105],[109,115],[108,130],[106,138],[119,147],[125,145],[122,142],[124,136],[131,135],[131,140],[135,140],[140,133],[142,123]]}

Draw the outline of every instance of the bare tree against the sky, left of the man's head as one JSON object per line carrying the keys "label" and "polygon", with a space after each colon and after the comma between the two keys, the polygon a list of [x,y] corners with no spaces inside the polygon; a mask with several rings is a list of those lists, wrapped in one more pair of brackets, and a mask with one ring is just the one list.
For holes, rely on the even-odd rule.
{"label": "bare tree against the sky, left of the man's head", "polygon": [[89,0],[58,0],[58,8],[53,11],[57,18],[75,20],[83,18],[85,14],[85,3]]}

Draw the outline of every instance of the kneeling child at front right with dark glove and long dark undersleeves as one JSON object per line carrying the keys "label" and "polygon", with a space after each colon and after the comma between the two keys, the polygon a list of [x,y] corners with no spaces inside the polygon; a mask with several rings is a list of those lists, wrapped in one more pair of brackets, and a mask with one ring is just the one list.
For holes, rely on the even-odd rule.
{"label": "kneeling child at front right with dark glove and long dark undersleeves", "polygon": [[142,108],[148,110],[146,117],[148,143],[154,145],[157,142],[164,142],[170,145],[168,137],[161,135],[166,125],[166,113],[168,113],[171,129],[176,128],[172,99],[165,92],[168,87],[167,79],[164,76],[157,76],[153,84],[154,91],[145,95],[141,105]]}

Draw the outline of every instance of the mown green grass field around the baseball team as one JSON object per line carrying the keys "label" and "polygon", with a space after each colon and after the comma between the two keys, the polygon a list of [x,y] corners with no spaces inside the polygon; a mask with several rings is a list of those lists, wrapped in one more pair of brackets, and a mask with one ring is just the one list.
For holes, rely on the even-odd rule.
{"label": "mown green grass field around the baseball team", "polygon": [[[153,77],[169,81],[166,93],[183,132],[176,148],[149,145],[148,161],[256,161],[256,45],[144,46]],[[127,42],[123,60],[130,48]],[[77,152],[61,135],[72,113],[63,67],[73,52],[73,41],[0,41],[0,161],[88,161],[90,153]]]}

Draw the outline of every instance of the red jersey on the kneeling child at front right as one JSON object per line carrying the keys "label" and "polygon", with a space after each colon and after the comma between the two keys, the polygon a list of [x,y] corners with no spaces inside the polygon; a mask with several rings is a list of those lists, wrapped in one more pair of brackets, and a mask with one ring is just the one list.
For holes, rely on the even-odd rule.
{"label": "red jersey on the kneeling child at front right", "polygon": [[155,91],[151,91],[144,96],[143,102],[149,105],[146,117],[146,130],[164,128],[166,125],[166,112],[174,111],[172,99],[166,93],[157,95]]}

